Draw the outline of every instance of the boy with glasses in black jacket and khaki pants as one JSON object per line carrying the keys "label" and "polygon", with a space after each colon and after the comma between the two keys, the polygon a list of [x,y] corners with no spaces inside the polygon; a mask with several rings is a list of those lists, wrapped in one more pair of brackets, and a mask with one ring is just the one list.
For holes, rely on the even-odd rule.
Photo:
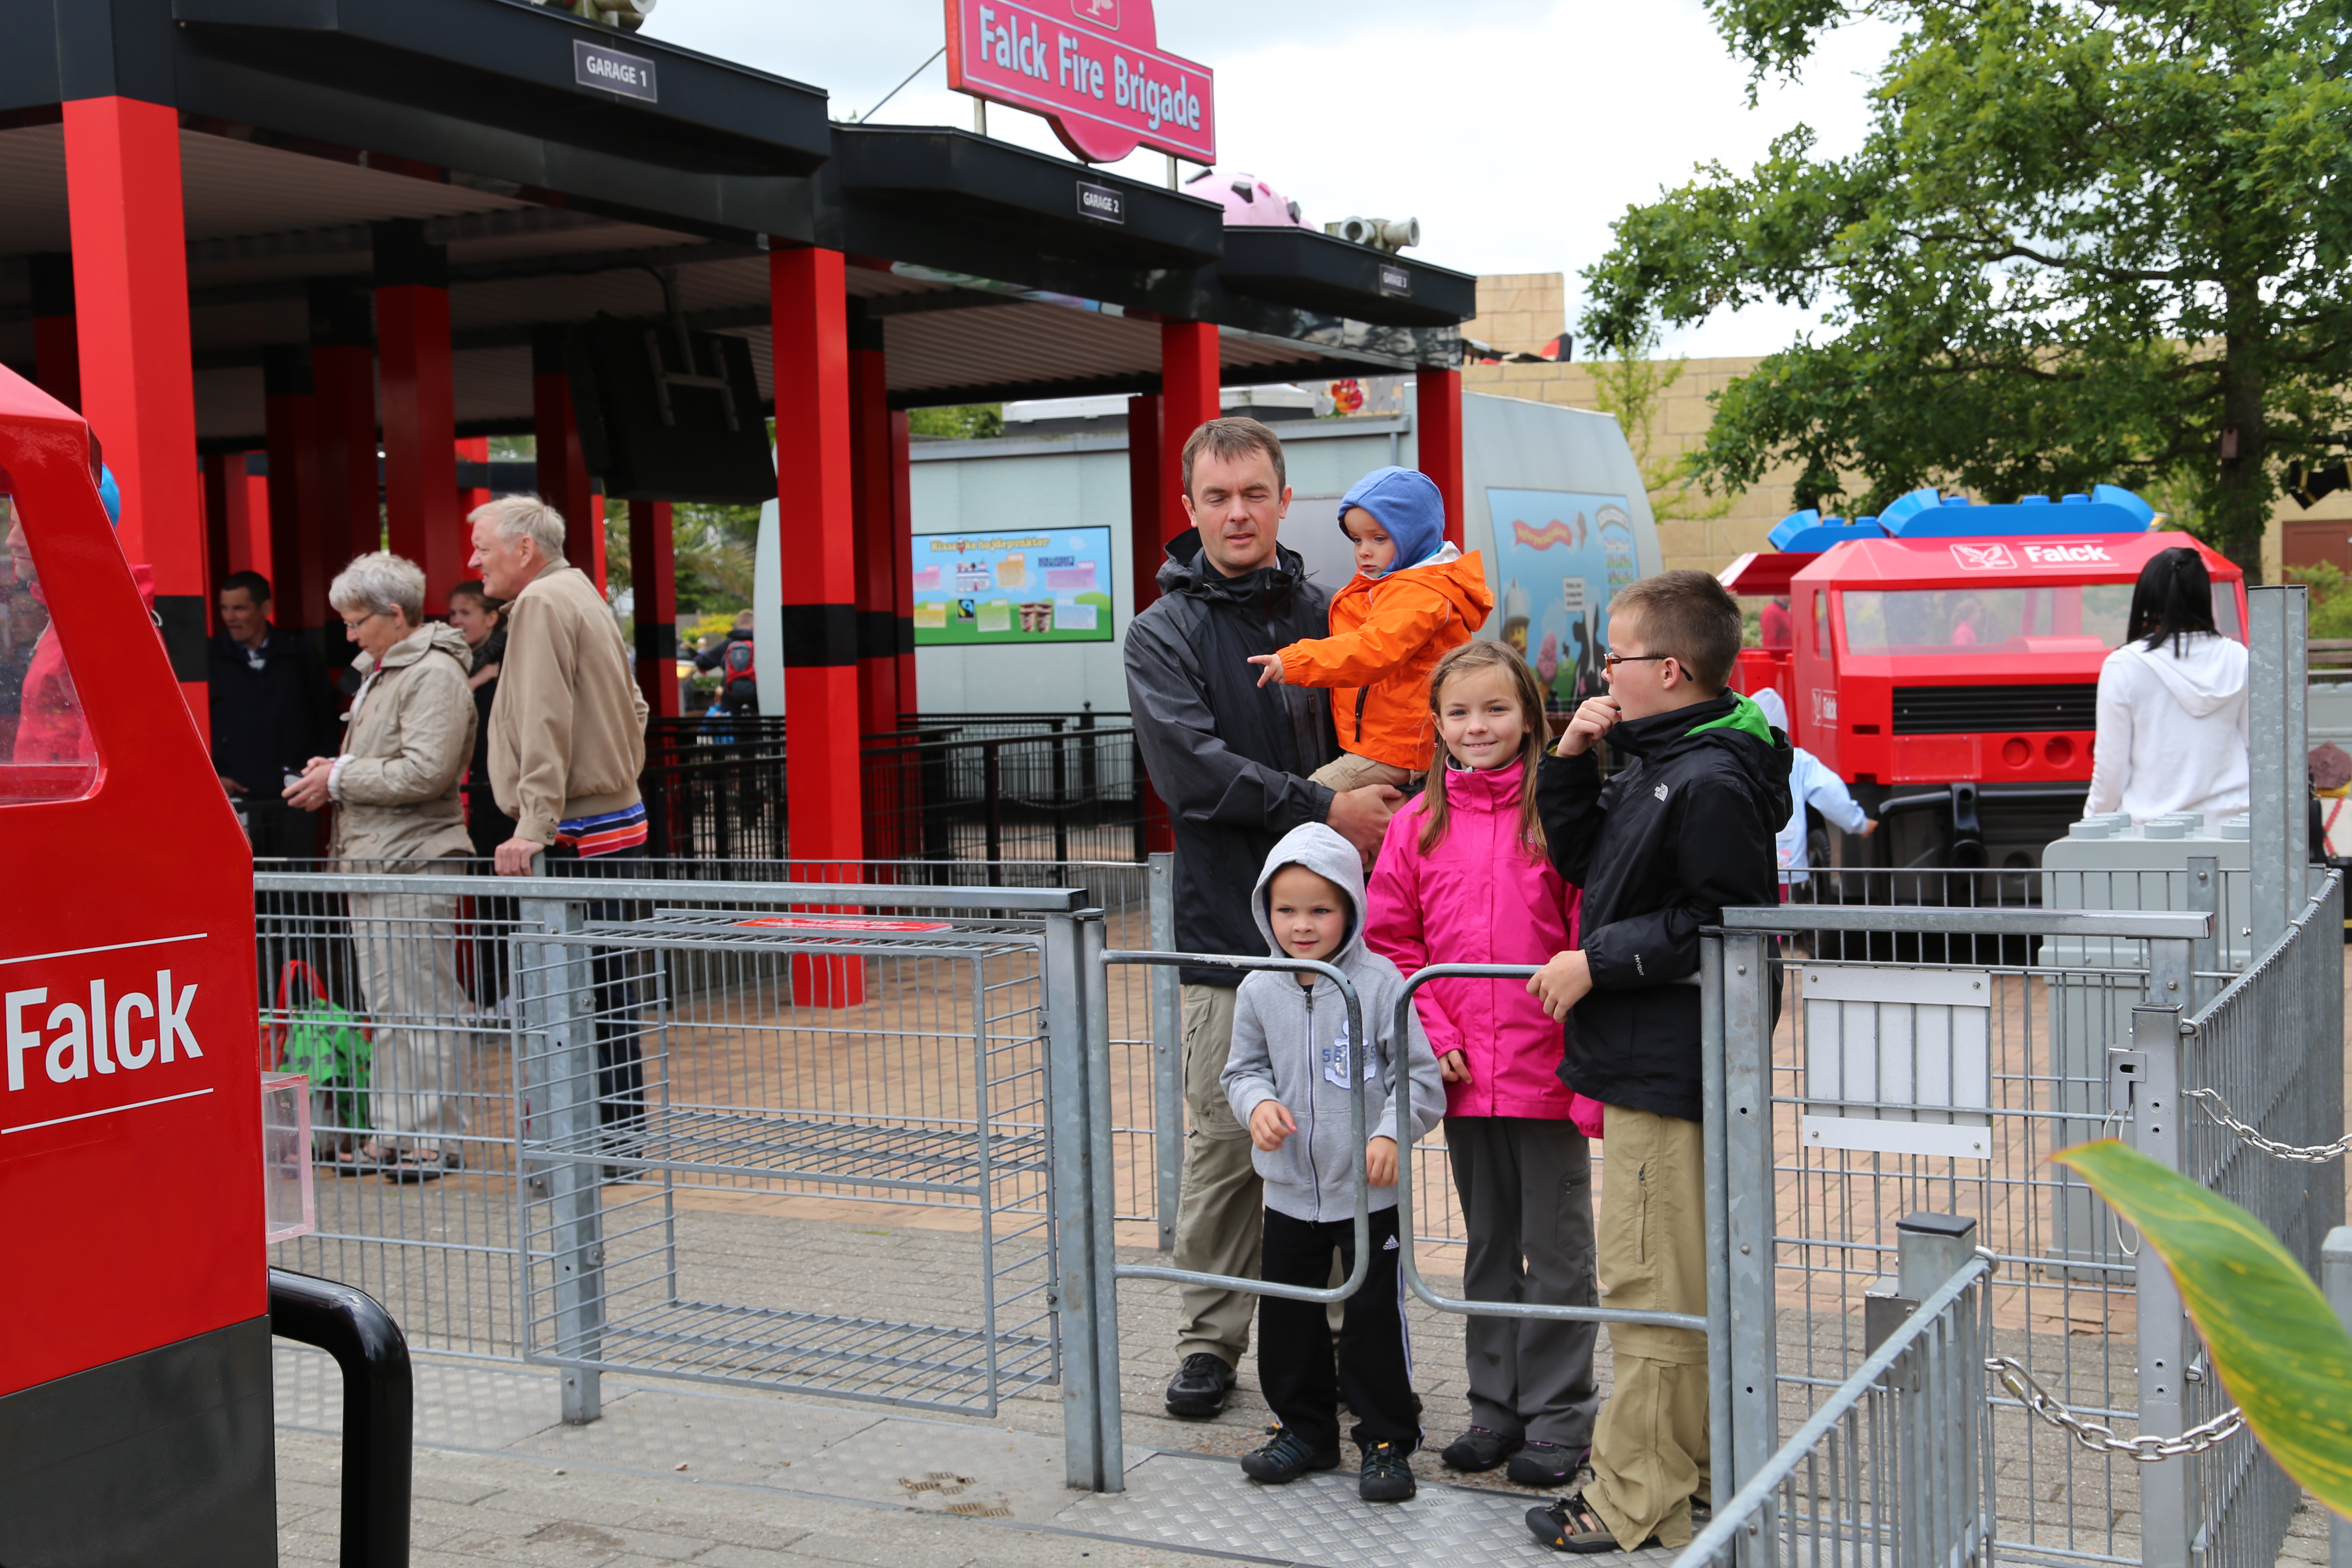
{"label": "boy with glasses in black jacket and khaki pants", "polygon": [[[1726,691],[1740,611],[1705,571],[1665,571],[1609,604],[1609,696],[1576,710],[1536,776],[1559,875],[1585,891],[1583,947],[1529,980],[1566,1023],[1559,1079],[1606,1107],[1597,1272],[1611,1307],[1708,1309],[1698,929],[1778,898],[1788,736]],[[1592,745],[1625,757],[1602,783]],[[1592,1481],[1531,1509],[1562,1552],[1684,1547],[1708,1500],[1708,1340],[1611,1324],[1616,1389]]]}

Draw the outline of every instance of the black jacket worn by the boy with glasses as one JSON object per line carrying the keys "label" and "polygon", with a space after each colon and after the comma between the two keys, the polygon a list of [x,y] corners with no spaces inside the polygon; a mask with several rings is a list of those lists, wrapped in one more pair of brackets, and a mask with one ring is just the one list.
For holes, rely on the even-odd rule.
{"label": "black jacket worn by the boy with glasses", "polygon": [[1788,736],[1738,693],[1621,722],[1630,762],[1545,757],[1536,811],[1552,865],[1585,891],[1592,992],[1566,1025],[1559,1081],[1602,1105],[1700,1121],[1698,929],[1780,896]]}

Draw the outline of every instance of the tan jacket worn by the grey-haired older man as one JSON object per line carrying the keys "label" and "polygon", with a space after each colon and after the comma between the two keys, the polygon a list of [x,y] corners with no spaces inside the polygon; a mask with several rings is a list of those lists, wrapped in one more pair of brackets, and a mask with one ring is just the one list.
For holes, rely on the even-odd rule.
{"label": "tan jacket worn by the grey-haired older man", "polygon": [[515,837],[626,811],[644,771],[644,696],[621,625],[579,567],[546,567],[506,607],[506,663],[489,708],[489,788]]}

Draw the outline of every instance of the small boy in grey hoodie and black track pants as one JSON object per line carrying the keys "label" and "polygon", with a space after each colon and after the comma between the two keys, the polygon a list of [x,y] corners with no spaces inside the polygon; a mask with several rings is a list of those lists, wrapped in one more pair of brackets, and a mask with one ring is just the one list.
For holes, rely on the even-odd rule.
{"label": "small boy in grey hoodie and black track pants", "polygon": [[[1364,1502],[1414,1495],[1406,1455],[1421,1446],[1404,1338],[1404,1291],[1397,1274],[1397,1138],[1418,1140],[1446,1112],[1444,1079],[1406,1009],[1397,1039],[1404,976],[1364,947],[1364,863],[1348,839],[1322,823],[1294,827],[1265,856],[1251,896],[1258,933],[1275,957],[1322,959],[1355,985],[1364,1006],[1362,1056],[1348,1039],[1348,1006],[1317,973],[1251,971],[1232,1004],[1232,1056],[1225,1098],[1249,1124],[1251,1161],[1265,1180],[1265,1265],[1261,1279],[1324,1286],[1331,1255],[1355,1269],[1355,1185],[1371,1175],[1371,1267],[1345,1302],[1338,1375],[1331,1326],[1315,1302],[1268,1295],[1258,1305],[1258,1387],[1282,1422],[1265,1448],[1247,1455],[1254,1481],[1296,1481],[1338,1467],[1338,1399],[1355,1410],[1348,1434],[1364,1450],[1357,1493]],[[1414,1074],[1414,1126],[1399,1133],[1388,1084],[1397,1058]],[[1367,1145],[1348,1128],[1348,1072],[1364,1074]]]}

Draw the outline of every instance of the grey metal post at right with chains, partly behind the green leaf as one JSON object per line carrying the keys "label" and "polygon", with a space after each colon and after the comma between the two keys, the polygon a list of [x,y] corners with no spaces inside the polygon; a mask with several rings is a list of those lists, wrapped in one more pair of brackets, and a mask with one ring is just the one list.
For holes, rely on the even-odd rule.
{"label": "grey metal post at right with chains, partly behind the green leaf", "polygon": [[[2150,990],[2157,990],[2157,947],[2150,943]],[[2187,943],[2178,943],[2187,945]],[[2180,1117],[2180,1018],[2178,1004],[2131,1009],[2131,1048],[2145,1070],[2131,1093],[2131,1145],[2166,1171],[2180,1171],[2185,1140]],[[2138,1291],[2138,1361],[2140,1361],[2140,1436],[2180,1436],[2187,1429],[2187,1356],[2190,1328],[2173,1284],[2154,1248],[2140,1244]],[[2187,1460],[2140,1467],[2140,1563],[2143,1568],[2190,1568],[2190,1540],[2197,1530],[2197,1469]]]}

